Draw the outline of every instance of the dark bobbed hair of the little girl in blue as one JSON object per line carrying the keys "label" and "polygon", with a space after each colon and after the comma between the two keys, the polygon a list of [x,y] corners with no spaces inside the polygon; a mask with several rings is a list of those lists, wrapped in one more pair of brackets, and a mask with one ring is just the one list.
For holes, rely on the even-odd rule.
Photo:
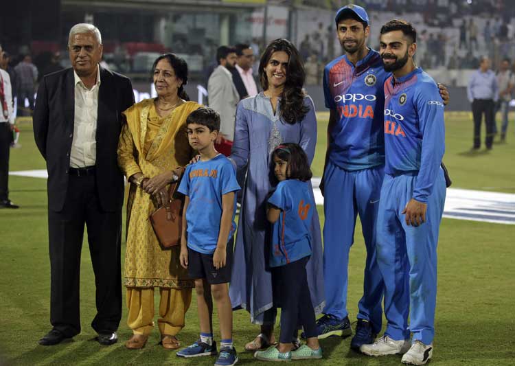
{"label": "dark bobbed hair of the little girl in blue", "polygon": [[274,157],[278,157],[282,161],[288,161],[286,167],[288,179],[299,179],[299,181],[306,182],[313,176],[308,156],[299,144],[290,142],[277,146],[272,152],[272,161]]}

